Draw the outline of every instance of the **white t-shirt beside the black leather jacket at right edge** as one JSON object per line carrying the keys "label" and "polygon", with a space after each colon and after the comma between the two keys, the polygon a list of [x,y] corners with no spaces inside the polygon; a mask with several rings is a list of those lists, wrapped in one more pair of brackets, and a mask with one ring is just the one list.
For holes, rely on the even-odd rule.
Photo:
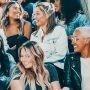
{"label": "white t-shirt beside the black leather jacket at right edge", "polygon": [[90,58],[81,58],[82,90],[90,90]]}

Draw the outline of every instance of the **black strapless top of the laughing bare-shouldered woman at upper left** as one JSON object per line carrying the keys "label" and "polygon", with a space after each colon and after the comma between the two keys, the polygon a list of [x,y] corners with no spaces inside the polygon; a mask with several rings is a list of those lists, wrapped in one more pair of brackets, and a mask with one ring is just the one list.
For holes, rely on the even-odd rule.
{"label": "black strapless top of the laughing bare-shouldered woman at upper left", "polygon": [[10,49],[7,51],[14,57],[16,62],[18,62],[18,48],[27,40],[28,38],[19,34],[16,34],[7,38],[7,42],[10,48],[16,45],[16,48],[14,50]]}

